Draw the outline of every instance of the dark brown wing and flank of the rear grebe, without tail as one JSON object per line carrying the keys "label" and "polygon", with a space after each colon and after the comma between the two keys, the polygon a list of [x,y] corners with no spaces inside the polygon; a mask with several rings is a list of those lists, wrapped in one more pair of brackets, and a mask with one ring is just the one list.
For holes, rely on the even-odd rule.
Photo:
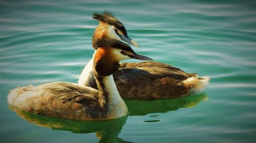
{"label": "dark brown wing and flank of the rear grebe, without tail", "polygon": [[123,63],[114,73],[123,98],[160,99],[186,95],[183,80],[194,75],[158,62]]}

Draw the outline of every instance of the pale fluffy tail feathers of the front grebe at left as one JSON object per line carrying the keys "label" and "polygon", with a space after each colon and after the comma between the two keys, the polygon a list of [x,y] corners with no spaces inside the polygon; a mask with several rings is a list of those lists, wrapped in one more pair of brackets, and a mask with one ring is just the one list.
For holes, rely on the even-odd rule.
{"label": "pale fluffy tail feathers of the front grebe at left", "polygon": [[18,87],[16,89],[11,90],[7,96],[8,103],[11,105],[14,105],[14,102],[18,98],[19,95],[23,94],[26,91],[31,90],[32,88],[33,88],[33,86],[29,85],[27,87]]}

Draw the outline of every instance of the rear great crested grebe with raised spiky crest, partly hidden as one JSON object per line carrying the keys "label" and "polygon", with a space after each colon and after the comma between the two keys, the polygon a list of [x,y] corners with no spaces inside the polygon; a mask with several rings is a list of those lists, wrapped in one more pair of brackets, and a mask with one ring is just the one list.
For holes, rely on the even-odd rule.
{"label": "rear great crested grebe with raised spiky crest, partly hidden", "polygon": [[[94,13],[93,18],[99,21],[93,37],[92,45],[100,38],[117,39],[134,46],[139,45],[127,36],[123,24],[112,13],[104,11]],[[78,85],[97,88],[93,77],[92,60],[83,69]],[[179,68],[159,63],[121,63],[113,74],[114,80],[122,98],[130,99],[166,99],[194,94],[204,89],[209,77],[199,77],[196,73],[186,73]]]}

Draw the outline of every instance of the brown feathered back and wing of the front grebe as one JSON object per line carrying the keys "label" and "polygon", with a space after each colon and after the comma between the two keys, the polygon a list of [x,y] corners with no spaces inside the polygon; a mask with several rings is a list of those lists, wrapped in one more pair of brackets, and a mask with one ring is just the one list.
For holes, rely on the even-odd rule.
{"label": "brown feathered back and wing of the front grebe", "polygon": [[49,117],[92,120],[99,108],[97,90],[69,82],[38,85],[24,94],[35,96],[25,100],[22,110]]}

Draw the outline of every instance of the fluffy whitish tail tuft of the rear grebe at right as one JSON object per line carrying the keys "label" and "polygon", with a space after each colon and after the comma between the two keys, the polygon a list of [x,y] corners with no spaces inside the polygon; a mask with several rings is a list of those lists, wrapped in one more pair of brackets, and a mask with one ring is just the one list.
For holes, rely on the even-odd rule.
{"label": "fluffy whitish tail tuft of the rear grebe at right", "polygon": [[191,88],[192,93],[203,91],[210,80],[209,76],[192,76],[183,81],[185,87]]}

